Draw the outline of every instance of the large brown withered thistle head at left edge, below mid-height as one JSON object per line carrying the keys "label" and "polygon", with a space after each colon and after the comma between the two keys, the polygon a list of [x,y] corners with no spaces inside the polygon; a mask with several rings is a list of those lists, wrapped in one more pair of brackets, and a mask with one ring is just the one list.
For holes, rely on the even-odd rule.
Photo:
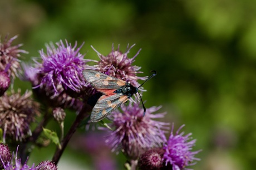
{"label": "large brown withered thistle head at left edge, below mid-height", "polygon": [[29,124],[40,114],[40,105],[31,99],[32,92],[21,95],[11,91],[0,97],[0,128],[3,129],[3,141],[6,136],[22,141],[26,135],[31,135]]}

